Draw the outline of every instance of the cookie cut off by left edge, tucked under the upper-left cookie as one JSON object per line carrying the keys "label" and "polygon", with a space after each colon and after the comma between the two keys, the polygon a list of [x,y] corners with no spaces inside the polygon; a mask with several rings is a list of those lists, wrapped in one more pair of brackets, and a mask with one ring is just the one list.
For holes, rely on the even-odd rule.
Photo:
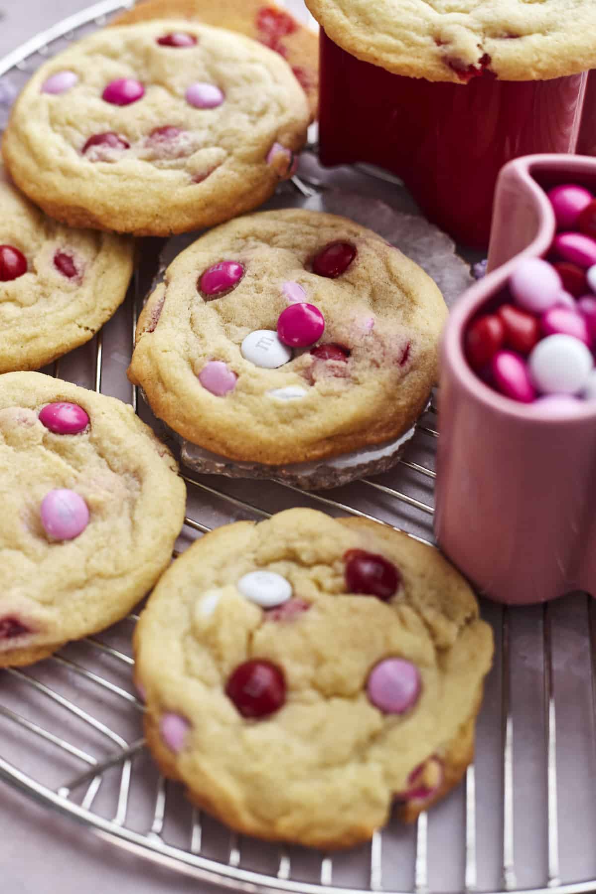
{"label": "cookie cut off by left edge, tucked under the upper-left cookie", "polygon": [[0,167],[0,373],[38,369],[88,342],[124,299],[132,240],[72,230]]}

